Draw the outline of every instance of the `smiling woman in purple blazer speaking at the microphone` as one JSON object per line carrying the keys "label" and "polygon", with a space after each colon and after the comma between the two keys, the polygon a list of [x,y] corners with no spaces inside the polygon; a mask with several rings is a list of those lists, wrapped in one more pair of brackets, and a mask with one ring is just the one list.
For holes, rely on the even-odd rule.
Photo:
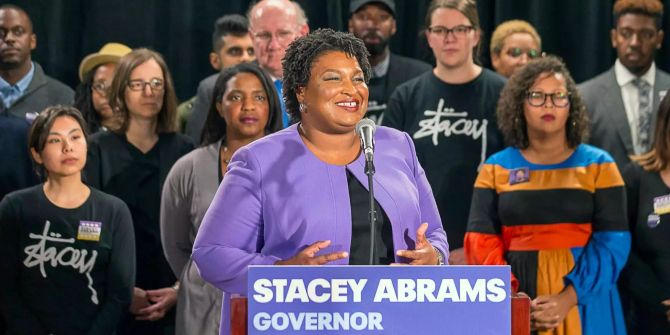
{"label": "smiling woman in purple blazer speaking at the microphone", "polygon": [[[283,61],[295,124],[237,151],[193,247],[202,277],[246,294],[249,265],[368,264],[367,176],[355,126],[365,115],[370,64],[363,42],[320,29]],[[375,134],[375,264],[443,264],[447,236],[412,140]],[[229,300],[221,334],[230,332]]]}

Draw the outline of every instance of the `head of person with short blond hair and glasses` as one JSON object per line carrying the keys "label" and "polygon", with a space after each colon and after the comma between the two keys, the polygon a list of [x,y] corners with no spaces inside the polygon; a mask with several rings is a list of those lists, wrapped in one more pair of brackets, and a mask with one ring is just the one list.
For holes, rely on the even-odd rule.
{"label": "head of person with short blond hair and glasses", "polygon": [[493,68],[509,78],[518,68],[542,56],[542,40],[530,23],[510,20],[493,31],[490,49]]}

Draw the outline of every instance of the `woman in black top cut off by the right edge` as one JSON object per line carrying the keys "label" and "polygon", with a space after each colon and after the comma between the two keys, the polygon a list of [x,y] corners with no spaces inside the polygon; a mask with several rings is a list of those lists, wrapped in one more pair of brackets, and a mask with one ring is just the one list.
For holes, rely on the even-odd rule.
{"label": "woman in black top cut off by the right edge", "polygon": [[654,139],[623,173],[633,245],[619,286],[629,334],[670,334],[670,95]]}

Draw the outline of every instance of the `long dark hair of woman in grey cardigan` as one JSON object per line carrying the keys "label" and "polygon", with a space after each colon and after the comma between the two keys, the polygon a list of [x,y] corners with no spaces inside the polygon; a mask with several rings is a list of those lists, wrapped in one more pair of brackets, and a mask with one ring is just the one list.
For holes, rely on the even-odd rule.
{"label": "long dark hair of woman in grey cardigan", "polygon": [[205,121],[205,128],[202,131],[202,145],[218,142],[226,136],[226,120],[221,117],[219,111],[216,109],[216,103],[221,102],[221,99],[223,99],[228,81],[240,73],[255,75],[261,81],[263,90],[268,96],[268,123],[265,125],[265,134],[274,133],[282,129],[281,105],[279,104],[279,95],[272,83],[272,79],[258,65],[241,63],[223,70],[216,79],[212,104],[209,106],[207,121]]}

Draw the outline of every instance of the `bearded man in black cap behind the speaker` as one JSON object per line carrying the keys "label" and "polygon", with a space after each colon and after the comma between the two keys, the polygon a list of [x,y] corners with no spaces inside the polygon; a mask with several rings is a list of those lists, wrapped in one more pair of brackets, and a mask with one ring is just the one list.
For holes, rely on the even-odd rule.
{"label": "bearded man in black cap behind the speaker", "polygon": [[396,32],[393,0],[354,0],[350,3],[349,32],[370,52],[372,77],[368,87],[367,117],[381,124],[386,100],[400,84],[432,69],[424,62],[391,53],[389,41]]}

